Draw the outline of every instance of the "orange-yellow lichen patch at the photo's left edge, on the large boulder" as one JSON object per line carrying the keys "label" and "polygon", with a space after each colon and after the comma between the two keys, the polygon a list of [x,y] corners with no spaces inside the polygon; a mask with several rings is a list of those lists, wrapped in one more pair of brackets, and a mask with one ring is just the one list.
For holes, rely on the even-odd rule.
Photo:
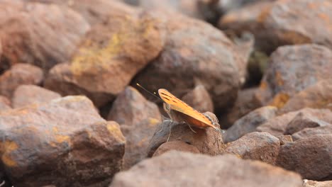
{"label": "orange-yellow lichen patch at the photo's left edge, on the large boulder", "polygon": [[11,152],[16,149],[18,149],[16,142],[0,142],[0,153],[2,153],[1,160],[6,166],[12,167],[17,165],[17,163],[10,157]]}

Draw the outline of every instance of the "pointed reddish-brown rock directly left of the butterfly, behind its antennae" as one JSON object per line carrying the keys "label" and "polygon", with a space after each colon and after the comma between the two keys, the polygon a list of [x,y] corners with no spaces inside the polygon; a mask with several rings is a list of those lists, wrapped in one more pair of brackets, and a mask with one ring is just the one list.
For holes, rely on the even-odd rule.
{"label": "pointed reddish-brown rock directly left of the butterfly, behind its antennae", "polygon": [[161,121],[159,108],[131,86],[118,94],[107,117],[108,120],[114,120],[121,125],[137,125],[148,118]]}

